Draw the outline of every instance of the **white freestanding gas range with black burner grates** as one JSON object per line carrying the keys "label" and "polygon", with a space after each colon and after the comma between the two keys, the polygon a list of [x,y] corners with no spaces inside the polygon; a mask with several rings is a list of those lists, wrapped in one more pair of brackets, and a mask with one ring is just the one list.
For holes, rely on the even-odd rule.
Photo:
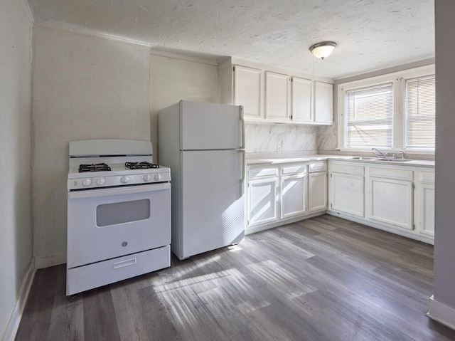
{"label": "white freestanding gas range with black burner grates", "polygon": [[171,171],[151,142],[70,142],[67,295],[171,265]]}

